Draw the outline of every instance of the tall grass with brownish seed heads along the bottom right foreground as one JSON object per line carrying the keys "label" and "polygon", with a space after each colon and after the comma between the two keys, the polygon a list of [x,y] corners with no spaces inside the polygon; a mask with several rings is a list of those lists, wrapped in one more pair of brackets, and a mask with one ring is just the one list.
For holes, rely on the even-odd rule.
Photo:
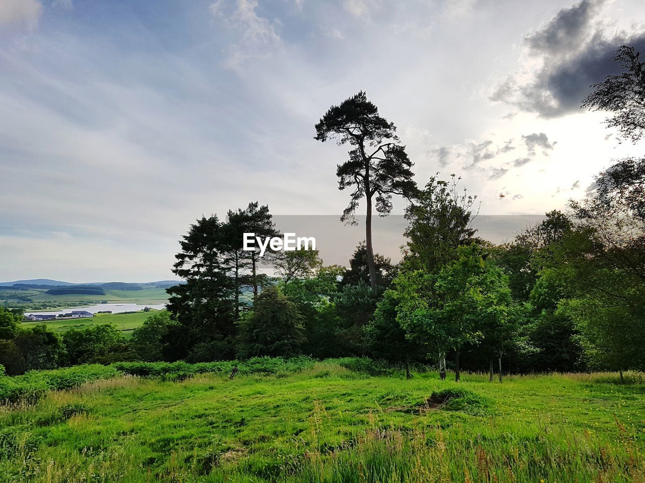
{"label": "tall grass with brownish seed heads along the bottom right foreground", "polygon": [[[522,428],[524,433],[528,428]],[[372,428],[341,451],[306,453],[293,481],[311,483],[642,482],[642,455],[631,438],[575,435],[531,428],[534,436],[496,439],[457,436],[441,429]]]}

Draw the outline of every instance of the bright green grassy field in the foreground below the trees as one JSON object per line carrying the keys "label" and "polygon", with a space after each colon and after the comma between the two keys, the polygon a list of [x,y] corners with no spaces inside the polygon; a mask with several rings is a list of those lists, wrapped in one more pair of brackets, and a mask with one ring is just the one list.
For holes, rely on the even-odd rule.
{"label": "bright green grassy field in the foreground below the trees", "polygon": [[0,408],[0,480],[645,481],[642,378],[463,377],[113,377]]}

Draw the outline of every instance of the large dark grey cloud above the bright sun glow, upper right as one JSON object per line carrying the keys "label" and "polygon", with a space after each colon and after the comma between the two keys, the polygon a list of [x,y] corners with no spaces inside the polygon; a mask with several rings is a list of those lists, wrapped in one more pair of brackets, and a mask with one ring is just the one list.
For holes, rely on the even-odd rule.
{"label": "large dark grey cloud above the bright sun glow, upper right", "polygon": [[[622,44],[645,50],[645,33],[615,33],[601,22],[604,0],[582,0],[524,37],[524,66],[490,96],[545,118],[577,112],[590,85],[617,73],[611,62]],[[537,67],[535,67],[537,66]]]}

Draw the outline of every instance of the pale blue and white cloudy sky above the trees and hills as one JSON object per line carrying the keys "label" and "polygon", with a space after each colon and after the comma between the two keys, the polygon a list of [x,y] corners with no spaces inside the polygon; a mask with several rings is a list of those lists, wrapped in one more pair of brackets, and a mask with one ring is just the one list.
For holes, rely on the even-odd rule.
{"label": "pale blue and white cloudy sky above the trees and hills", "polygon": [[203,214],[341,214],[313,126],[359,90],[419,184],[565,209],[642,151],[580,102],[644,26],[642,0],[0,0],[0,281],[169,279]]}

